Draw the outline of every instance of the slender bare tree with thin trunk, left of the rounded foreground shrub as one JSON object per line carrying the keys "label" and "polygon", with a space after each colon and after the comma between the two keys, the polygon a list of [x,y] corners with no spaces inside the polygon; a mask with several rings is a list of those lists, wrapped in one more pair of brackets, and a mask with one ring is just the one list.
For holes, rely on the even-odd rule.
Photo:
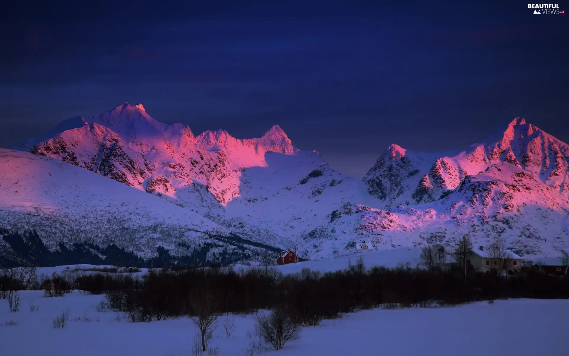
{"label": "slender bare tree with thin trunk, left of the rounded foreground shrub", "polygon": [[220,297],[215,293],[201,290],[192,294],[188,305],[189,318],[199,329],[201,349],[205,352],[208,349],[213,332],[217,328],[217,320],[221,316]]}

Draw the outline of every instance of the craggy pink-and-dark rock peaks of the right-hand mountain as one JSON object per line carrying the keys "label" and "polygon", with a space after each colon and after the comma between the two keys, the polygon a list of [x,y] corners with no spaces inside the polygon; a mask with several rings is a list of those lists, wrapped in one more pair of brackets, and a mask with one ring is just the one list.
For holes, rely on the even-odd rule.
{"label": "craggy pink-and-dark rock peaks of the right-hand mountain", "polygon": [[[569,146],[520,118],[485,143],[474,144],[451,157],[412,153],[414,158],[407,158],[410,154],[391,145],[364,177],[370,194],[391,204],[434,202],[450,194],[467,175],[509,163],[538,174],[548,186],[568,196]],[[431,161],[430,169],[425,170],[426,165],[417,165],[417,161],[427,164]],[[418,181],[413,173],[420,173]],[[401,186],[405,189],[394,189]],[[405,191],[412,192],[411,199],[398,199]]]}

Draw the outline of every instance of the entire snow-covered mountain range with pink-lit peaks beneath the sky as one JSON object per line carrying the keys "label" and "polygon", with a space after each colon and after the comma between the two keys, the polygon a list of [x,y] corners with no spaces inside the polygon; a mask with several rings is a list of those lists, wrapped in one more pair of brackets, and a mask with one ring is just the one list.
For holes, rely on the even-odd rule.
{"label": "entire snow-covered mountain range with pink-lit peaks beneath the sky", "polygon": [[[145,214],[160,222],[167,224],[165,214],[174,209],[175,216],[188,214],[176,224],[294,247],[308,258],[353,253],[361,240],[377,249],[452,245],[465,233],[477,244],[501,236],[521,255],[553,256],[569,247],[569,146],[519,118],[463,152],[423,154],[391,145],[363,179],[334,171],[318,152],[295,149],[279,126],[261,138],[241,140],[224,130],[194,136],[188,126],[154,120],[141,104],[71,118],[11,149],[36,156],[3,150],[2,165],[8,159],[35,172],[52,165],[68,172],[56,181],[69,190],[56,207],[37,194],[27,198],[35,216],[73,211],[99,220],[90,217],[91,206],[97,207],[90,197],[96,196],[106,202],[105,210],[120,206],[123,215],[117,219],[123,219],[137,207],[93,187],[113,179],[123,183],[123,197],[151,199]],[[68,171],[57,161],[78,167]],[[78,189],[73,185],[79,171],[90,177],[81,181],[90,183]],[[55,184],[48,177],[13,169],[9,181],[37,191]],[[21,227],[10,214],[22,211],[22,203],[4,194],[14,189],[5,179],[0,183],[5,223]],[[97,193],[90,193],[93,189]],[[160,243],[155,236],[153,247]],[[141,245],[136,251],[153,250]]]}

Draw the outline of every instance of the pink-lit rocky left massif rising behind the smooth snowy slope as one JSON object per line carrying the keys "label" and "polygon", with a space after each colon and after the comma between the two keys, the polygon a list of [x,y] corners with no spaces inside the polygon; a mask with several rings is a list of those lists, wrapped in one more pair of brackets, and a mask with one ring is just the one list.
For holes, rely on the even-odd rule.
{"label": "pink-lit rocky left massif rising behind the smooth snowy slope", "polygon": [[83,125],[37,142],[30,152],[83,167],[137,189],[145,187],[149,193],[157,191],[156,182],[164,179],[168,183],[160,183],[164,187],[159,190],[161,194],[198,182],[207,186],[221,204],[239,196],[242,168],[266,165],[267,152],[298,151],[279,126],[273,126],[261,138],[239,140],[224,130],[194,137],[187,126],[154,120],[141,104],[125,103],[99,116],[70,120],[75,126],[81,120]]}

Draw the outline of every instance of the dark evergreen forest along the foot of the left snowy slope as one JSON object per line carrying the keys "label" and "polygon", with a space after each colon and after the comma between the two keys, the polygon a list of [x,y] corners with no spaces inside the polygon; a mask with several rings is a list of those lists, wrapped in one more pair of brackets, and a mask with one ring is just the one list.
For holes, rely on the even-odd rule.
{"label": "dark evergreen forest along the foot of the left snowy slope", "polygon": [[225,242],[237,248],[228,250],[222,248],[220,252],[210,253],[212,248],[220,247],[215,243],[205,243],[201,247],[191,248],[189,245],[179,243],[186,248],[187,254],[184,256],[172,256],[168,250],[162,246],[156,249],[157,256],[151,259],[143,259],[133,252],[127,252],[115,244],[107,247],[100,247],[90,243],[74,243],[71,248],[63,243],[59,244],[58,251],[50,251],[42,242],[35,231],[20,233],[0,228],[2,239],[10,245],[11,251],[0,251],[0,267],[11,268],[20,265],[30,265],[35,267],[50,267],[69,264],[93,264],[93,265],[118,265],[126,267],[140,268],[170,268],[176,264],[192,265],[194,267],[216,265],[229,265],[237,261],[251,258],[251,253],[245,245],[277,251],[278,249],[254,243],[250,240],[239,238],[237,235],[221,236],[210,235],[220,242]]}

